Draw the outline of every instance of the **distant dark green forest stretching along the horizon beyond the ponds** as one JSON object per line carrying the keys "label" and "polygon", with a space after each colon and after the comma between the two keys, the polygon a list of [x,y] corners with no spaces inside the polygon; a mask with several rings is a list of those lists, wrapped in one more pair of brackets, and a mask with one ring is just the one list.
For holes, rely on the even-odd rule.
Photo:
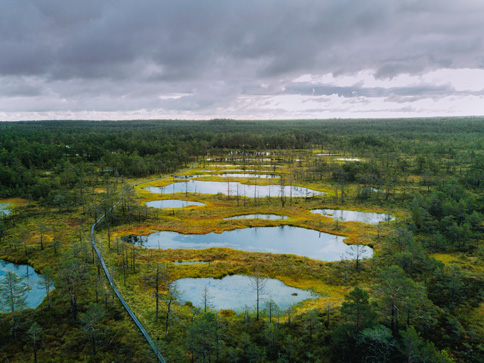
{"label": "distant dark green forest stretching along the horizon beyond the ponds", "polygon": [[[425,170],[436,158],[481,150],[484,120],[389,119],[297,121],[31,121],[0,122],[0,197],[46,197],[56,180],[75,184],[86,175],[144,177],[172,172],[217,150],[304,149],[421,155]],[[427,141],[426,143],[417,141]],[[445,142],[444,142],[445,141]],[[484,162],[466,175],[480,185]],[[435,170],[431,170],[435,174]],[[69,174],[69,175],[66,175]]]}

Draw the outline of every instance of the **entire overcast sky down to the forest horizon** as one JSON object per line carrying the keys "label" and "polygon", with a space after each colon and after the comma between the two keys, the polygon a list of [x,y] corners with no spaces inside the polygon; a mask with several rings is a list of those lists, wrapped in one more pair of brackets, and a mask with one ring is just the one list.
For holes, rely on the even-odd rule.
{"label": "entire overcast sky down to the forest horizon", "polygon": [[0,120],[484,115],[483,0],[0,0]]}

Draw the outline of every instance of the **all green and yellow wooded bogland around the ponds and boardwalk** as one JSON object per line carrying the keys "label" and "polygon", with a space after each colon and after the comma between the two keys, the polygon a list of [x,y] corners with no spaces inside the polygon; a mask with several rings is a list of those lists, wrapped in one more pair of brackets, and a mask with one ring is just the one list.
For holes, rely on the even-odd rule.
{"label": "all green and yellow wooded bogland around the ponds and boardwalk", "polygon": [[[194,195],[208,207],[175,212],[148,208],[155,197],[133,188],[227,160],[245,170],[257,158],[279,177],[261,185],[324,194],[242,198],[237,189],[232,197]],[[0,259],[32,266],[47,291],[38,308],[24,309],[21,277],[0,281],[2,362],[156,361],[91,248],[90,228],[102,215],[96,238],[108,268],[168,362],[484,361],[482,118],[2,122],[0,198],[13,206],[0,219]],[[395,219],[367,227],[313,218],[315,208]],[[285,213],[291,225],[349,236],[374,254],[321,262],[153,251],[123,238],[240,228],[223,220],[237,211]],[[210,268],[171,264],[195,259]],[[266,303],[259,314],[259,305],[236,312],[182,304],[172,290],[177,278],[233,274],[316,286],[321,298],[286,310]]]}

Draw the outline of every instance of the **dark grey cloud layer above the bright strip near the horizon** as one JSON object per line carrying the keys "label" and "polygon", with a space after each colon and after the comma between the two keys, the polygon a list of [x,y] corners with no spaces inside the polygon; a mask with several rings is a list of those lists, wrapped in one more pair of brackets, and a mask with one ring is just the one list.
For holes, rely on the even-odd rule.
{"label": "dark grey cloud layer above the bright strip near the horizon", "polygon": [[[479,0],[1,0],[0,77],[10,84],[0,96],[23,95],[32,109],[28,97],[43,95],[73,110],[197,110],[280,94],[302,74],[482,68],[483,10]],[[159,98],[167,93],[188,95]]]}

